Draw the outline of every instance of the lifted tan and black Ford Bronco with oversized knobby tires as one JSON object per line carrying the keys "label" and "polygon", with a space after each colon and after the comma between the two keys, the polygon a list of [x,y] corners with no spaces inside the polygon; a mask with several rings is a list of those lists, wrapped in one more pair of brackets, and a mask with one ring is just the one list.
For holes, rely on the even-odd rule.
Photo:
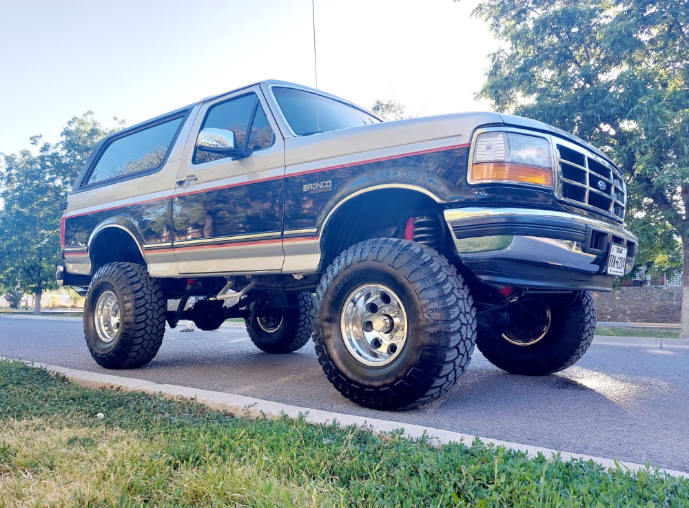
{"label": "lifted tan and black Ford Bronco with oversized knobby tires", "polygon": [[166,321],[240,317],[265,352],[313,337],[351,401],[408,408],[448,392],[474,343],[515,374],[581,358],[589,291],[634,264],[625,206],[613,162],[544,123],[381,122],[263,81],[101,140],[66,205],[57,278],[86,295],[105,368],[150,362]]}

